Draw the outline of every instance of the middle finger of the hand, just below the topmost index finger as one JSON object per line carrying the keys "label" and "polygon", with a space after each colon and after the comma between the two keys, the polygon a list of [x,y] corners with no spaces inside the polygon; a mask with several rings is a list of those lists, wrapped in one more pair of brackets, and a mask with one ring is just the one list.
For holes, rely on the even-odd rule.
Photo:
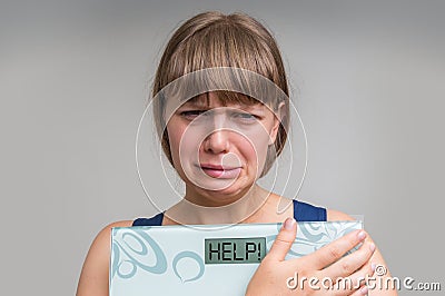
{"label": "middle finger of the hand, just below the topmost index finger", "polygon": [[370,259],[376,247],[374,243],[366,241],[358,250],[343,257],[329,267],[326,267],[322,274],[334,279],[338,277],[347,277],[364,266]]}

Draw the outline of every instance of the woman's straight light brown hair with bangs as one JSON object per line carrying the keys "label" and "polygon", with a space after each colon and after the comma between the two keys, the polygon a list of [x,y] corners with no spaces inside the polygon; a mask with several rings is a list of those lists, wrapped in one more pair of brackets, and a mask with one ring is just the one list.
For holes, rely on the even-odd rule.
{"label": "woman's straight light brown hair with bangs", "polygon": [[[289,90],[281,55],[271,33],[257,20],[244,14],[224,14],[216,11],[202,12],[182,23],[168,41],[160,59],[152,97],[175,79],[202,69],[235,67],[254,71],[271,80],[286,95],[281,107],[280,126],[275,147],[269,148],[264,176],[283,151],[289,125]],[[237,101],[258,103],[258,100],[233,91],[217,91],[222,103]],[[268,105],[277,109],[278,101],[269,98]],[[161,147],[172,165],[164,111],[166,101],[154,101],[155,124]]]}

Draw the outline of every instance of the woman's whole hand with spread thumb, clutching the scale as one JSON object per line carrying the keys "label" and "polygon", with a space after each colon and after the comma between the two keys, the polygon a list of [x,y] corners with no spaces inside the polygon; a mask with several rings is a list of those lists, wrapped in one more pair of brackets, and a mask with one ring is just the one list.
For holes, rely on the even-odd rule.
{"label": "woman's whole hand with spread thumb, clutching the scale", "polygon": [[[366,241],[366,233],[356,230],[300,258],[285,260],[297,234],[297,223],[286,219],[270,251],[255,272],[246,296],[270,295],[366,295],[364,278],[372,276],[370,257],[376,247]],[[346,251],[363,243],[360,248],[345,257]],[[314,277],[318,283],[309,285]],[[339,278],[349,277],[353,285],[336,287]],[[307,280],[301,283],[301,279]],[[329,279],[329,280],[328,280]],[[330,282],[334,285],[329,288]],[[301,285],[303,284],[303,285]],[[288,287],[290,286],[290,288]]]}

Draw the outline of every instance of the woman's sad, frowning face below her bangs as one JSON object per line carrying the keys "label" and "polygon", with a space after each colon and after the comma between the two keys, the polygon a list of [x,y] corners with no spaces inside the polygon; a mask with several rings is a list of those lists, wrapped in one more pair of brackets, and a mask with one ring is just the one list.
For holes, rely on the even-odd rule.
{"label": "woman's sad, frowning face below her bangs", "polygon": [[217,95],[180,106],[167,124],[174,166],[186,198],[222,206],[241,198],[260,176],[279,119],[265,105],[222,106]]}

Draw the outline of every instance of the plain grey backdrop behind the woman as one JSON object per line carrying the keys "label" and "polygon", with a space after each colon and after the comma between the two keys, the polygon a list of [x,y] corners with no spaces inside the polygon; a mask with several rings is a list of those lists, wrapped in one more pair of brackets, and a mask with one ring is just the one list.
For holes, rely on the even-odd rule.
{"label": "plain grey backdrop behind the woman", "polygon": [[170,33],[205,10],[275,33],[308,134],[300,198],[365,215],[394,275],[444,285],[445,2],[2,1],[1,294],[72,295],[103,226],[156,213],[136,129]]}

